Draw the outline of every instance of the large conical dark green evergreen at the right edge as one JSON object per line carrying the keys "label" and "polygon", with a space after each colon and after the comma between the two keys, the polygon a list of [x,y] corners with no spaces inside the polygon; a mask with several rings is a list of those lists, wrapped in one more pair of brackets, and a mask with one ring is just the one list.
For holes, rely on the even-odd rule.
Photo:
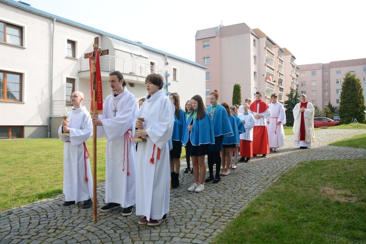
{"label": "large conical dark green evergreen at the right edge", "polygon": [[356,74],[346,73],[342,83],[341,102],[339,106],[340,123],[350,123],[356,119],[365,123],[365,98],[361,81]]}

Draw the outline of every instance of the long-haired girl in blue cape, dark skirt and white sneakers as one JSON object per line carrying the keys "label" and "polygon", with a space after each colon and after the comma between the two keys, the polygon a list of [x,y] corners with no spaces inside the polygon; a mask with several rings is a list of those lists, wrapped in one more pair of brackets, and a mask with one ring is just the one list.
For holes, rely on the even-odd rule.
{"label": "long-haired girl in blue cape, dark skirt and white sneakers", "polygon": [[191,103],[194,112],[188,118],[183,134],[183,144],[191,156],[194,176],[194,183],[188,191],[201,192],[204,190],[203,181],[206,177],[204,157],[209,153],[209,146],[215,143],[214,129],[201,96],[193,96]]}

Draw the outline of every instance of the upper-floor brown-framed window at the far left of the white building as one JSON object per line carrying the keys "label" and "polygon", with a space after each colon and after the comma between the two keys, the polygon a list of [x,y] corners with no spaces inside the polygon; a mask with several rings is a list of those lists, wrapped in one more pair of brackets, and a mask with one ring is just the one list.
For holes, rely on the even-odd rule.
{"label": "upper-floor brown-framed window at the far left of the white building", "polygon": [[0,21],[0,41],[23,45],[23,27]]}

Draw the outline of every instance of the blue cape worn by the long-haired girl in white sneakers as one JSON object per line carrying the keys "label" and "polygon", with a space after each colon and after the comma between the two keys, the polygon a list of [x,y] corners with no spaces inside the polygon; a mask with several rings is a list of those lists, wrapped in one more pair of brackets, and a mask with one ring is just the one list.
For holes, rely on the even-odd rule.
{"label": "blue cape worn by the long-haired girl in white sneakers", "polygon": [[[188,125],[193,120],[193,115],[191,115],[186,123],[185,130],[183,133],[183,145],[188,142]],[[212,121],[210,114],[204,111],[204,117],[202,119],[197,119],[193,121],[192,131],[190,135],[190,140],[192,145],[198,146],[201,144],[215,144],[215,137],[213,133]]]}

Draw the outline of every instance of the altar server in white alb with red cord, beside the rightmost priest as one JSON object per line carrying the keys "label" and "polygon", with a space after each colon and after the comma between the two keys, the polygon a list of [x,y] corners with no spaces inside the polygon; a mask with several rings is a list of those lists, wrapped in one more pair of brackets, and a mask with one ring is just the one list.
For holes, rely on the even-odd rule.
{"label": "altar server in white alb with red cord, beside the rightmost priest", "polygon": [[269,103],[271,115],[267,121],[269,148],[277,152],[278,147],[284,146],[284,127],[286,114],[284,105],[277,100],[277,93],[271,95],[272,102]]}

